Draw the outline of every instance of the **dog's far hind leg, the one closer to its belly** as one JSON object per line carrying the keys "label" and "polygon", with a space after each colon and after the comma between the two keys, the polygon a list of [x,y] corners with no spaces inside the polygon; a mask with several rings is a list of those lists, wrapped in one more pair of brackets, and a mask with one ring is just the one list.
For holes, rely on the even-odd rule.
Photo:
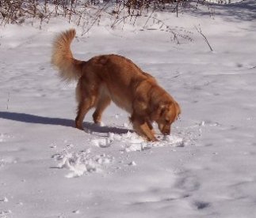
{"label": "dog's far hind leg, the one closer to its belly", "polygon": [[111,99],[107,95],[101,95],[101,97],[97,100],[96,109],[93,114],[94,123],[101,123],[101,115],[106,107],[109,106]]}

